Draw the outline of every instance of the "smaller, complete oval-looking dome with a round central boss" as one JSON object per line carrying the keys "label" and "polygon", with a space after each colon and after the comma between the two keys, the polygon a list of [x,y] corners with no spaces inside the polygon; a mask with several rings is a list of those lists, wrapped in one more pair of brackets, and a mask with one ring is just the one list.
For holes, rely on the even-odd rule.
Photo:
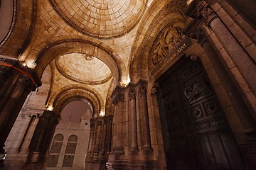
{"label": "smaller, complete oval-looking dome with a round central boss", "polygon": [[62,55],[55,60],[55,65],[63,76],[83,84],[103,84],[112,77],[107,65],[90,55]]}

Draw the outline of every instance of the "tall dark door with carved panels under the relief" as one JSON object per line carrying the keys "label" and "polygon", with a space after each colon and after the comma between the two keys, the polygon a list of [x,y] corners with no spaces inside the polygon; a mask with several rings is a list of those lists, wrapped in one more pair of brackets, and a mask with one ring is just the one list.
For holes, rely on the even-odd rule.
{"label": "tall dark door with carved panels under the relief", "polygon": [[168,169],[243,169],[238,147],[200,61],[183,58],[160,79]]}

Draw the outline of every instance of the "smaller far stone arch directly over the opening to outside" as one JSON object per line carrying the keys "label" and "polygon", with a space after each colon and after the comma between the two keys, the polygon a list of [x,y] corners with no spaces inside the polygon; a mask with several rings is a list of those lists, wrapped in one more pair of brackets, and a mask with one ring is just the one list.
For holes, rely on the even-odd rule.
{"label": "smaller far stone arch directly over the opening to outside", "polygon": [[78,86],[68,86],[62,91],[55,93],[48,101],[47,106],[53,106],[55,113],[60,115],[63,108],[75,100],[89,101],[92,107],[92,116],[98,115],[105,108],[105,103],[100,98],[100,94],[97,94],[97,91]]}

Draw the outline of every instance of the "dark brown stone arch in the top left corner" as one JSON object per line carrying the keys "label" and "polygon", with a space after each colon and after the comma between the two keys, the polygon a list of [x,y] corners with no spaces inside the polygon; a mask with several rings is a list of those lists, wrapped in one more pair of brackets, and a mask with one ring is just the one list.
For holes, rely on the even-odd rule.
{"label": "dark brown stone arch in the top left corner", "polygon": [[33,28],[36,25],[36,14],[40,9],[38,9],[37,0],[26,2],[13,0],[13,3],[14,12],[11,27],[4,40],[0,43],[0,54],[18,57],[31,42]]}

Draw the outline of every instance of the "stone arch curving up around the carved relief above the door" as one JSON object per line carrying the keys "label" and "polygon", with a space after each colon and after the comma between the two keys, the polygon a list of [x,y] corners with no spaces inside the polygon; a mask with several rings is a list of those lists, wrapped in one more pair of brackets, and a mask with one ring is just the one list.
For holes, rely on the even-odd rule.
{"label": "stone arch curving up around the carved relief above the door", "polygon": [[[164,6],[162,6],[163,4]],[[155,6],[159,6],[159,8]],[[144,23],[140,25],[134,45],[132,46],[132,56],[130,57],[129,65],[132,81],[136,81],[139,78],[146,79],[149,76],[149,52],[161,30],[170,23],[178,25],[179,28],[184,27],[186,16],[183,11],[186,8],[185,6],[186,1],[170,1],[169,3],[157,1],[151,5],[146,16],[156,13],[154,14],[154,19],[145,18]],[[145,33],[142,33],[143,31]]]}

